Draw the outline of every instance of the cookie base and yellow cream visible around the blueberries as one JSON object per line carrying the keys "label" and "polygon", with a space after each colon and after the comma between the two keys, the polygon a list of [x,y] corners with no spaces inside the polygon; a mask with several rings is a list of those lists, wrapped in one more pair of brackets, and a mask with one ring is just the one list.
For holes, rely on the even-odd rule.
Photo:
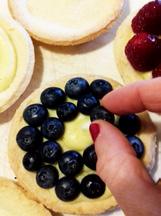
{"label": "cookie base and yellow cream visible around the blueberries", "polygon": [[[83,76],[83,75],[82,75]],[[120,84],[111,79],[107,79],[100,76],[84,75],[83,76],[89,83],[95,79],[105,79],[111,83],[113,88],[120,87]],[[47,87],[60,87],[64,89],[65,83],[71,79],[70,77],[64,77],[54,82],[51,82],[44,87],[40,87],[34,93],[32,93],[17,109],[15,116],[12,120],[10,135],[9,135],[9,161],[11,168],[13,169],[19,184],[25,188],[38,202],[44,204],[47,208],[60,213],[68,214],[98,214],[105,212],[111,208],[115,208],[117,203],[112,196],[109,189],[106,187],[105,192],[102,196],[97,199],[90,199],[84,196],[82,193],[73,201],[62,201],[55,193],[54,188],[42,189],[36,183],[36,175],[34,172],[27,171],[22,165],[22,159],[25,155],[25,151],[21,150],[16,143],[16,135],[18,131],[26,126],[27,124],[23,120],[24,109],[34,103],[40,103],[40,94]],[[71,100],[70,100],[71,101]],[[75,103],[72,100],[73,103]],[[56,116],[55,111],[49,110],[49,116]],[[155,151],[156,151],[156,130],[146,112],[139,114],[141,119],[141,130],[137,133],[145,147],[145,154],[142,158],[143,163],[147,169],[151,170],[155,163]],[[57,142],[63,148],[63,151],[76,150],[80,154],[83,153],[84,149],[92,143],[88,126],[90,124],[89,116],[79,114],[75,120],[65,122],[65,133],[62,138]],[[81,127],[81,129],[80,129]],[[69,128],[69,129],[68,129]],[[87,140],[86,142],[82,140]],[[79,141],[82,141],[78,143]],[[84,142],[84,143],[83,143]],[[77,143],[77,144],[76,144]],[[16,160],[15,160],[16,158]],[[54,164],[58,168],[57,164]],[[84,175],[95,173],[95,171],[84,166],[83,171],[77,175],[77,180],[81,181]],[[60,178],[62,173],[59,172]]]}

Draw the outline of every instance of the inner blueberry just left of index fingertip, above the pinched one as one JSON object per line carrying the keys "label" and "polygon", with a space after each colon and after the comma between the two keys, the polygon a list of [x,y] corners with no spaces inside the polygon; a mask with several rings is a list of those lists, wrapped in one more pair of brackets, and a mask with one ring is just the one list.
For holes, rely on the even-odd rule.
{"label": "inner blueberry just left of index fingertip, above the pinched one", "polygon": [[98,105],[99,100],[97,100],[92,94],[82,96],[78,99],[77,103],[78,110],[85,115],[89,115],[92,109]]}

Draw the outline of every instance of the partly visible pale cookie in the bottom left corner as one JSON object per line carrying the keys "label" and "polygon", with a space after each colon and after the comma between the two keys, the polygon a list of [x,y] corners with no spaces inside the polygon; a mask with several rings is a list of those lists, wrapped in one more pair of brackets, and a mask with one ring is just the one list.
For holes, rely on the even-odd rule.
{"label": "partly visible pale cookie in the bottom left corner", "polygon": [[50,212],[28,198],[15,182],[0,178],[1,216],[51,216]]}

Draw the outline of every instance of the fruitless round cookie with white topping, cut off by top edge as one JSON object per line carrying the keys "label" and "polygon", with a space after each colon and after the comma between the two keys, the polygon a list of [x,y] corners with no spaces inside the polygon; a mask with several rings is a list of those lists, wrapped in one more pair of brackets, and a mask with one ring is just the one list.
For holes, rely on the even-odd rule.
{"label": "fruitless round cookie with white topping, cut off by top edge", "polygon": [[[45,5],[38,0],[10,0],[9,6],[13,16],[36,40],[67,46],[93,40],[107,31],[120,15],[123,2],[88,0],[67,4],[61,1],[57,5],[60,11],[55,11],[56,2],[51,0],[45,1]],[[67,5],[63,7],[61,4]],[[39,5],[43,10],[38,8]]]}

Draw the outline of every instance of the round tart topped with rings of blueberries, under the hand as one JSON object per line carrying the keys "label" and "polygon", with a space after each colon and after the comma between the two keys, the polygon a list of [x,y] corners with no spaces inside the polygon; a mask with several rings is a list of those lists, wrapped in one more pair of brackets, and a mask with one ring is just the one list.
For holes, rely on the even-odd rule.
{"label": "round tart topped with rings of blueberries, under the hand", "polygon": [[[117,206],[96,172],[97,155],[89,133],[93,120],[116,125],[138,160],[152,169],[156,131],[148,114],[116,116],[100,105],[103,95],[118,87],[116,81],[99,76],[67,77],[36,90],[16,111],[9,138],[10,165],[19,184],[48,209],[99,214]],[[58,95],[53,88],[59,88]]]}

